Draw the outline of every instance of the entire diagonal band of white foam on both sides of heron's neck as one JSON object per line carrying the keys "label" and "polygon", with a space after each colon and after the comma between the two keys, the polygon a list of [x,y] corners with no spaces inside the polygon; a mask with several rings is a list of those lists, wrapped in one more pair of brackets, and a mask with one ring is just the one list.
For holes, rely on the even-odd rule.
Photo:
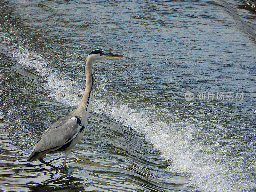
{"label": "entire diagonal band of white foam on both sides of heron's neck", "polygon": [[[78,106],[84,90],[77,88],[74,80],[49,67],[35,52],[13,48],[11,53],[21,65],[34,68],[38,75],[45,78],[47,83],[44,88],[50,92],[49,97]],[[167,124],[156,119],[150,119],[153,123],[149,123],[144,118],[145,111],[137,112],[127,105],[111,103],[107,98],[99,99],[101,97],[99,93],[94,93],[92,110],[114,118],[144,135],[145,140],[162,152],[161,157],[170,163],[166,171],[190,176],[188,186],[205,192],[238,192],[256,187],[252,180],[247,179],[239,164],[233,163],[234,157],[214,149],[214,145],[218,146],[217,142],[203,145],[193,137],[197,131],[196,125],[188,122]]]}

